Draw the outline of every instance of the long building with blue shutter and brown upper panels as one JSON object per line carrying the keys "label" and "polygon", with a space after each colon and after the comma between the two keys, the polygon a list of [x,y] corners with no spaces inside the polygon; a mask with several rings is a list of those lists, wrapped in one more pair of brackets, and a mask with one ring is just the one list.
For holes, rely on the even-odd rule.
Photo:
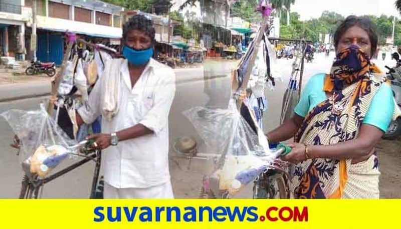
{"label": "long building with blue shutter and brown upper panels", "polygon": [[[37,42],[32,38],[36,1]],[[28,59],[33,59],[36,46],[37,59],[60,65],[64,56],[66,31],[87,40],[112,42],[122,36],[122,7],[97,0],[23,0],[31,12],[27,24],[26,47]]]}

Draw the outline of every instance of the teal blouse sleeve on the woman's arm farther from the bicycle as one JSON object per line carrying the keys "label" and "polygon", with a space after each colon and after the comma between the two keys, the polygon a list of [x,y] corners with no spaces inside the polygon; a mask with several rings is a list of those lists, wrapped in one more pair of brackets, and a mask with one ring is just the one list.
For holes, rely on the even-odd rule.
{"label": "teal blouse sleeve on the woman's arm farther from the bicycle", "polygon": [[369,124],[387,131],[394,113],[394,101],[391,87],[388,84],[382,84],[374,95],[363,124]]}

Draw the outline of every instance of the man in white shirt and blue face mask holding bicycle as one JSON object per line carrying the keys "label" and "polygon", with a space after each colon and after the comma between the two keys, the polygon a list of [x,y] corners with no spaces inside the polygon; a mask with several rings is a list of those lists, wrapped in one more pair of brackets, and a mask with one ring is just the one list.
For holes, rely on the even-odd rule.
{"label": "man in white shirt and blue face mask holding bicycle", "polygon": [[88,139],[103,150],[104,198],[173,198],[168,113],[175,74],[151,58],[154,36],[150,20],[132,17],[123,27],[125,59],[107,62],[87,105],[77,112],[79,125],[102,115],[102,133]]}

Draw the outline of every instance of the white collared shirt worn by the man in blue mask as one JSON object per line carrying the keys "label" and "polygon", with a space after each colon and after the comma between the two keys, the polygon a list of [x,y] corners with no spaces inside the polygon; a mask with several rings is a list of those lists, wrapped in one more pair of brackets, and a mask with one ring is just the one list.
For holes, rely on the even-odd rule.
{"label": "white collared shirt worn by the man in blue mask", "polygon": [[[120,108],[111,121],[102,119],[102,133],[114,133],[138,123],[154,133],[104,149],[104,180],[117,188],[146,188],[169,182],[168,113],[175,94],[175,73],[150,59],[131,89],[128,62],[124,60],[118,77],[122,77]],[[85,123],[92,123],[101,114],[101,93],[97,83],[88,105],[78,110]]]}

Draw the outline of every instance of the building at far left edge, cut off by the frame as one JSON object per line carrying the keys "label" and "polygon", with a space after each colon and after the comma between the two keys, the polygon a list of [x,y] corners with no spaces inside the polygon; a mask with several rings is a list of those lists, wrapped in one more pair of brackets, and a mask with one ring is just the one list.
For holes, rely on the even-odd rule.
{"label": "building at far left edge, cut off by the frame", "polygon": [[23,6],[24,0],[0,1],[0,56],[25,59],[25,24],[30,11]]}

